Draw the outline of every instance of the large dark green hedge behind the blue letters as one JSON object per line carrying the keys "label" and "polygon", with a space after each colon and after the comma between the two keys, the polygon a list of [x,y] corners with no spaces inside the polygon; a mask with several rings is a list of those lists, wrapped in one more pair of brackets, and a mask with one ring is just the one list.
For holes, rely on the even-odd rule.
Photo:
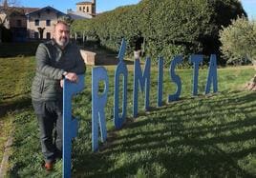
{"label": "large dark green hedge behind the blue letters", "polygon": [[101,46],[115,51],[125,38],[130,54],[142,38],[145,55],[161,54],[167,60],[177,52],[219,54],[219,30],[237,15],[246,15],[238,0],[141,0],[77,21],[73,30],[94,36]]}

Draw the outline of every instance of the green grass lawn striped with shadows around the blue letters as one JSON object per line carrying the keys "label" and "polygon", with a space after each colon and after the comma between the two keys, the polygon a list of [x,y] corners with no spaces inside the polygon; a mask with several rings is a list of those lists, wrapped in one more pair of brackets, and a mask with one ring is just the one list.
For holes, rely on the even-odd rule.
{"label": "green grass lawn striped with shadows around the blue letters", "polygon": [[[20,70],[15,69],[16,74],[23,73],[17,76],[0,70],[0,82],[6,82],[5,73],[10,75],[10,84],[6,82],[1,87],[1,105],[8,102],[11,105],[7,107],[9,118],[4,118],[11,120],[14,129],[9,176],[61,177],[61,162],[56,163],[51,173],[41,168],[39,132],[28,100],[34,59],[9,60],[0,59],[1,66],[3,61],[5,69],[14,69],[18,62],[24,65]],[[110,90],[105,109],[108,138],[95,153],[91,148],[90,67],[86,74],[87,88],[74,99],[74,113],[80,127],[73,145],[73,177],[256,176],[256,93],[242,89],[254,75],[251,67],[219,69],[219,93],[208,96],[203,95],[207,70],[201,69],[198,97],[191,96],[192,69],[177,70],[182,81],[181,100],[165,103],[161,108],[157,108],[158,73],[152,69],[152,108],[148,112],[143,110],[143,94],[139,94],[139,117],[135,119],[132,118],[133,67],[130,66],[128,118],[119,130],[113,124],[114,69],[108,67]],[[163,86],[166,101],[167,95],[175,91],[168,70],[164,71]]]}

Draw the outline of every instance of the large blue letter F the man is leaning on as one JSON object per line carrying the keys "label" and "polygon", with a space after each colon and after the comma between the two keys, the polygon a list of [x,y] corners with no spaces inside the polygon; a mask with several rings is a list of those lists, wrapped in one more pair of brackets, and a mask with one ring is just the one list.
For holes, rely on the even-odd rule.
{"label": "large blue letter F the man is leaning on", "polygon": [[77,120],[72,117],[72,96],[84,89],[84,75],[78,75],[78,83],[64,80],[63,88],[63,177],[71,177],[72,139],[78,130]]}

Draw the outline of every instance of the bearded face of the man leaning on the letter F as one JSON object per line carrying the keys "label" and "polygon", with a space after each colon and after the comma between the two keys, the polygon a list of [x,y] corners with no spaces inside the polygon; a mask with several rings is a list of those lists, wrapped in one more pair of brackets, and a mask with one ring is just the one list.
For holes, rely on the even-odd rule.
{"label": "bearded face of the man leaning on the letter F", "polygon": [[61,48],[65,48],[70,41],[69,27],[64,24],[57,24],[55,26],[53,38]]}

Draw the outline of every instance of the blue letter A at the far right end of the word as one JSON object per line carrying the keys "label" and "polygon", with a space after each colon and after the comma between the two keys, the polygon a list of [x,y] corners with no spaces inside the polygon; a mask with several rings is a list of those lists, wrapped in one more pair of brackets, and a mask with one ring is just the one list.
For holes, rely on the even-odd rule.
{"label": "blue letter A at the far right end of the word", "polygon": [[215,54],[212,54],[210,58],[210,68],[208,72],[207,84],[205,87],[205,94],[208,94],[210,92],[211,83],[213,83],[213,92],[217,92],[218,91],[217,59]]}

